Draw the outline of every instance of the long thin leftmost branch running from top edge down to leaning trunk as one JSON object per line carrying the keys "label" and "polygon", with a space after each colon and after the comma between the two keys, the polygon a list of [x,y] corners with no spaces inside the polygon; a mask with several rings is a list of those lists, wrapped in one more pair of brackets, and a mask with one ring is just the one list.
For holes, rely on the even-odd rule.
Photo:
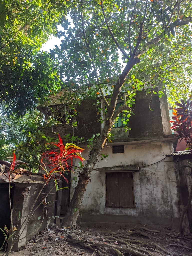
{"label": "long thin leftmost branch running from top edge down to leaning trunk", "polygon": [[[82,1],[81,1],[81,7],[83,7]],[[81,22],[82,22],[82,29],[83,29],[83,36],[84,36],[85,44],[86,44],[87,49],[88,49],[88,51],[89,51],[89,57],[90,57],[90,59],[91,59],[92,65],[93,65],[95,77],[97,78],[97,82],[98,82],[98,84],[99,84],[99,83],[100,83],[99,76],[98,76],[98,73],[97,73],[97,69],[96,69],[96,67],[95,67],[95,62],[94,62],[94,60],[93,60],[93,56],[92,56],[92,53],[91,53],[90,46],[89,46],[88,41],[87,41],[87,38],[86,38],[85,27],[84,27],[84,22],[83,22],[83,13],[81,13]],[[102,98],[103,98],[103,100],[104,100],[106,106],[109,106],[109,103],[108,103],[108,101],[106,100],[105,95],[104,95],[103,90],[102,90],[102,88],[101,88],[100,85],[99,85],[99,89],[100,89]]]}

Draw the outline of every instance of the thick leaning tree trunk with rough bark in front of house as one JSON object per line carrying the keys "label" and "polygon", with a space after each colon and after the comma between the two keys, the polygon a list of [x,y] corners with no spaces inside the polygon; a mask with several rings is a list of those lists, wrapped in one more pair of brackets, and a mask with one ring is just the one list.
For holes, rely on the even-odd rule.
{"label": "thick leaning tree trunk with rough bark in front of house", "polygon": [[115,88],[114,88],[114,91],[113,91],[113,94],[111,97],[111,103],[108,108],[108,112],[105,116],[105,125],[103,128],[103,131],[101,132],[101,135],[100,135],[98,141],[92,148],[92,150],[90,152],[90,157],[87,161],[87,164],[83,168],[83,171],[80,174],[77,187],[75,188],[74,195],[70,202],[70,206],[67,210],[65,219],[63,220],[62,227],[76,228],[77,218],[79,216],[79,211],[80,211],[81,204],[83,201],[83,196],[85,194],[87,185],[91,178],[91,173],[95,167],[95,164],[99,160],[100,153],[101,153],[101,151],[105,145],[105,142],[108,138],[109,132],[111,131],[111,129],[113,127],[114,121],[115,121],[116,117],[120,114],[120,113],[118,113],[116,115],[116,113],[115,113],[115,115],[114,115],[114,112],[115,112],[115,106],[116,106],[119,94],[121,92],[122,85],[125,82],[125,79],[126,79],[127,75],[130,73],[133,66],[139,62],[140,62],[140,59],[138,57],[132,56],[129,59],[129,61],[127,62],[127,65],[125,66],[122,74],[120,75],[120,77],[115,85]]}

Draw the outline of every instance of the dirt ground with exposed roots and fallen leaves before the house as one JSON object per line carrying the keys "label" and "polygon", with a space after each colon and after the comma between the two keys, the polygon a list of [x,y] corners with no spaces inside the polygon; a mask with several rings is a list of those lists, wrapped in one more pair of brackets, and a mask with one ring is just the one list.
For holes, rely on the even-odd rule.
{"label": "dirt ground with exposed roots and fallen leaves before the house", "polygon": [[72,230],[51,224],[11,255],[192,256],[192,237],[159,225],[86,222]]}

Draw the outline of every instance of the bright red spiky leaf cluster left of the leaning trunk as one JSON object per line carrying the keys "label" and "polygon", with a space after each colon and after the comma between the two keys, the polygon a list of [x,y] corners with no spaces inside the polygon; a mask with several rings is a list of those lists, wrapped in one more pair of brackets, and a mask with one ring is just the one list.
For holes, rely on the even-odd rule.
{"label": "bright red spiky leaf cluster left of the leaning trunk", "polygon": [[84,158],[81,156],[83,149],[72,143],[64,145],[60,135],[58,143],[50,142],[47,143],[47,146],[53,146],[54,148],[44,152],[41,156],[41,164],[43,165],[41,167],[45,171],[43,177],[47,183],[54,179],[56,190],[58,190],[57,180],[61,177],[68,183],[63,173],[72,170],[73,159],[79,159],[83,162]]}

